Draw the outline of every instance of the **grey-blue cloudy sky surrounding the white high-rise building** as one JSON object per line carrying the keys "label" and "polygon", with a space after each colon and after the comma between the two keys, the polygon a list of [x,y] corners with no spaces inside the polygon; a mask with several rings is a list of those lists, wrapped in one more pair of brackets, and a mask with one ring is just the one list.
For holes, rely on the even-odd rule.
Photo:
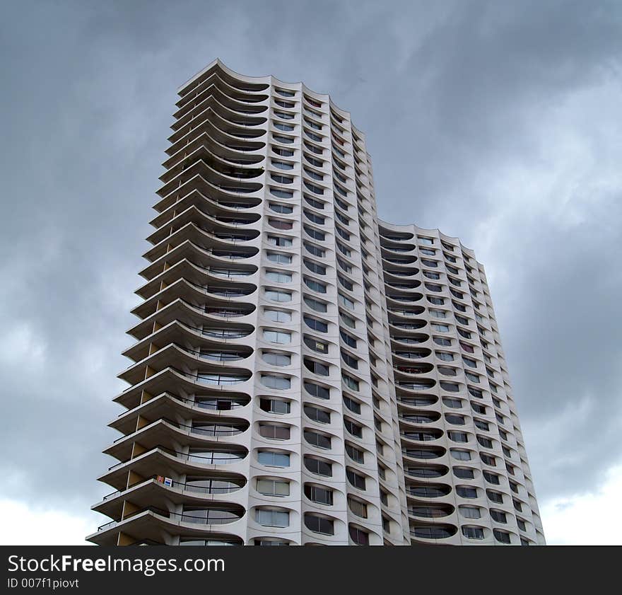
{"label": "grey-blue cloudy sky surrounding the white high-rise building", "polygon": [[621,39],[615,1],[4,4],[0,543],[102,523],[175,92],[215,57],[330,93],[380,216],[476,250],[548,543],[621,543]]}

